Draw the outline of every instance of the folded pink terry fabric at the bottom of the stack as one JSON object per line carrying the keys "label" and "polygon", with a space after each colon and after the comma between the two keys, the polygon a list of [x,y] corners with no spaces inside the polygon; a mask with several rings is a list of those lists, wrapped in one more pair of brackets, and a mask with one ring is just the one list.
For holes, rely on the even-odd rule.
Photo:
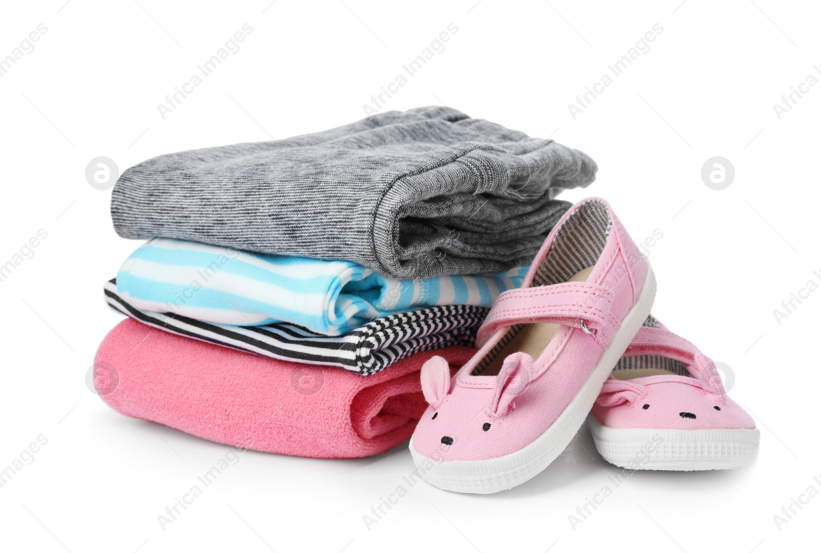
{"label": "folded pink terry fabric at the bottom of the stack", "polygon": [[[415,353],[373,376],[280,361],[123,320],[100,344],[95,380],[117,412],[206,440],[270,453],[365,457],[410,438],[427,407],[419,370],[433,355],[452,370],[472,348]],[[113,391],[112,387],[116,385]]]}

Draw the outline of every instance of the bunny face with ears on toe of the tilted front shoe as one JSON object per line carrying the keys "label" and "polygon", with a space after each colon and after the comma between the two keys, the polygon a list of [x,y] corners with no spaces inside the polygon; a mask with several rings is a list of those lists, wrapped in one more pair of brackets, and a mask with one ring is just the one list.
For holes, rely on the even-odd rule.
{"label": "bunny face with ears on toe of the tilted front shoe", "polygon": [[[414,446],[431,459],[470,459],[475,452],[487,454],[498,448],[499,434],[516,427],[513,413],[516,400],[526,395],[530,386],[533,359],[526,353],[505,358],[497,376],[473,376],[467,384],[473,394],[453,393],[465,386],[458,378],[453,382],[447,362],[432,357],[422,366],[424,398],[429,408],[424,412],[414,435]],[[504,440],[501,440],[502,443]]]}

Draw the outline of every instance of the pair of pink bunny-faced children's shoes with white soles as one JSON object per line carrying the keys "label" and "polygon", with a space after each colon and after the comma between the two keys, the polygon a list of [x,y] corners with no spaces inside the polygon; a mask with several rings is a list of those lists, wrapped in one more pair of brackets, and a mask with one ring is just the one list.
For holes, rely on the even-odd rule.
{"label": "pair of pink bunny-faced children's shoes with white soles", "polygon": [[715,364],[650,315],[655,293],[610,205],[574,205],[522,288],[493,304],[470,362],[453,376],[441,357],[422,367],[430,405],[410,440],[418,472],[451,491],[518,486],[562,453],[591,408],[596,449],[618,466],[752,463],[753,420],[727,398]]}

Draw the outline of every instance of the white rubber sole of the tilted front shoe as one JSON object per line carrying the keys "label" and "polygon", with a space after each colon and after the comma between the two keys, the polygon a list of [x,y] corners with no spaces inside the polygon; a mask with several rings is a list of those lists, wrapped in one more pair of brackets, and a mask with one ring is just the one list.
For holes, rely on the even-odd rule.
{"label": "white rubber sole of the tilted front shoe", "polygon": [[[477,461],[434,461],[420,454],[410,439],[410,454],[429,484],[447,491],[492,494],[527,482],[548,468],[570,444],[585,422],[585,417],[599,397],[604,380],[630,345],[635,333],[650,314],[656,297],[656,278],[648,269],[639,300],[627,311],[621,326],[613,334],[608,348],[590,373],[585,384],[562,414],[536,440],[518,451],[496,459]],[[430,468],[433,465],[433,468]],[[425,470],[428,468],[428,470]]]}

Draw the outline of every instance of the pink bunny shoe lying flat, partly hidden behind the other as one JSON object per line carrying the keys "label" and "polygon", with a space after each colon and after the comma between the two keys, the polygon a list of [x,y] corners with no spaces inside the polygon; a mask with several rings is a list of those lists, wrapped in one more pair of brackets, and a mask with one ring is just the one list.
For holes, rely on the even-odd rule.
{"label": "pink bunny shoe lying flat, partly hidden behind the other", "polygon": [[631,470],[753,463],[759,431],[727,397],[715,363],[653,316],[604,383],[589,417],[596,449]]}

